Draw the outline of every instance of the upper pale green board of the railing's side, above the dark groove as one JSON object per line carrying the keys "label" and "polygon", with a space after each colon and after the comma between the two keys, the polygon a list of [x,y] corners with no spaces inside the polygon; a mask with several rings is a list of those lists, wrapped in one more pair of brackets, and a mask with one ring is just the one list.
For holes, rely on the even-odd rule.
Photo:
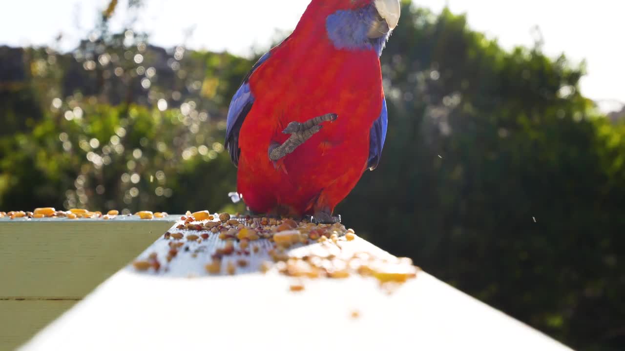
{"label": "upper pale green board of the railing's side, above the dark groove", "polygon": [[131,218],[0,220],[0,299],[84,297],[176,219]]}

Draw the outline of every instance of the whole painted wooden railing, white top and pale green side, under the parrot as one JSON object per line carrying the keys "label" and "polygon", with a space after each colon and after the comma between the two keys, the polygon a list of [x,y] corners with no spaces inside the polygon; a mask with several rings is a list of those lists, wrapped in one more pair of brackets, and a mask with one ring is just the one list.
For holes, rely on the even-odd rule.
{"label": "whole painted wooden railing, white top and pale green side, under the parrot", "polygon": [[344,227],[179,217],[0,220],[0,349],[570,350]]}

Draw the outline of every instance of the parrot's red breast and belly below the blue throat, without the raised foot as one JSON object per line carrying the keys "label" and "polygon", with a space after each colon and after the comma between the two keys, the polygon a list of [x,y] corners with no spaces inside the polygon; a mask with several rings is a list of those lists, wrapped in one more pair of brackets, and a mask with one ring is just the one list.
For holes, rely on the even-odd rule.
{"label": "parrot's red breast and belly below the blue throat, without the raised foot", "polygon": [[[258,93],[239,132],[237,174],[237,191],[251,210],[291,215],[311,214],[320,206],[334,210],[361,178],[369,155],[369,130],[382,106],[381,74],[377,56],[375,61],[365,60],[364,67],[350,66],[349,58],[335,57],[339,69],[323,74],[288,72],[292,79],[282,80],[282,85],[266,75],[280,76],[284,71],[261,67],[265,69],[256,72],[251,86]],[[266,87],[265,82],[272,84]],[[327,113],[338,114],[337,120],[324,123],[320,132],[277,164],[269,159],[269,144],[286,141],[282,130],[289,122]]]}

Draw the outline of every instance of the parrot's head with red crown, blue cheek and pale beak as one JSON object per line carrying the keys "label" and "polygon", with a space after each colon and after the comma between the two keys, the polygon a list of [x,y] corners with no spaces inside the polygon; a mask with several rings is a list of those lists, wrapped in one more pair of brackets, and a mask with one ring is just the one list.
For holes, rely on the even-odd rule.
{"label": "parrot's head with red crown, blue cheek and pale beak", "polygon": [[298,27],[310,32],[323,26],[339,49],[374,49],[381,54],[400,13],[399,0],[312,0]]}

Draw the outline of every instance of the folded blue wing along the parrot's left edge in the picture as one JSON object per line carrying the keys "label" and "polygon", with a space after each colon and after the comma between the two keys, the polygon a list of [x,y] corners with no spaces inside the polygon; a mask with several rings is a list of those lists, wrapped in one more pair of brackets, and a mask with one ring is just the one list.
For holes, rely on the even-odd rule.
{"label": "folded blue wing along the parrot's left edge in the picture", "polygon": [[252,109],[252,104],[254,104],[254,94],[252,94],[249,87],[249,77],[263,62],[267,61],[269,55],[269,52],[267,52],[252,66],[252,69],[247,73],[245,79],[243,79],[239,90],[237,90],[232,97],[230,107],[228,108],[228,116],[226,119],[226,148],[235,166],[238,166],[239,154],[241,154],[241,150],[239,149],[239,131],[241,131],[243,121],[249,110]]}

